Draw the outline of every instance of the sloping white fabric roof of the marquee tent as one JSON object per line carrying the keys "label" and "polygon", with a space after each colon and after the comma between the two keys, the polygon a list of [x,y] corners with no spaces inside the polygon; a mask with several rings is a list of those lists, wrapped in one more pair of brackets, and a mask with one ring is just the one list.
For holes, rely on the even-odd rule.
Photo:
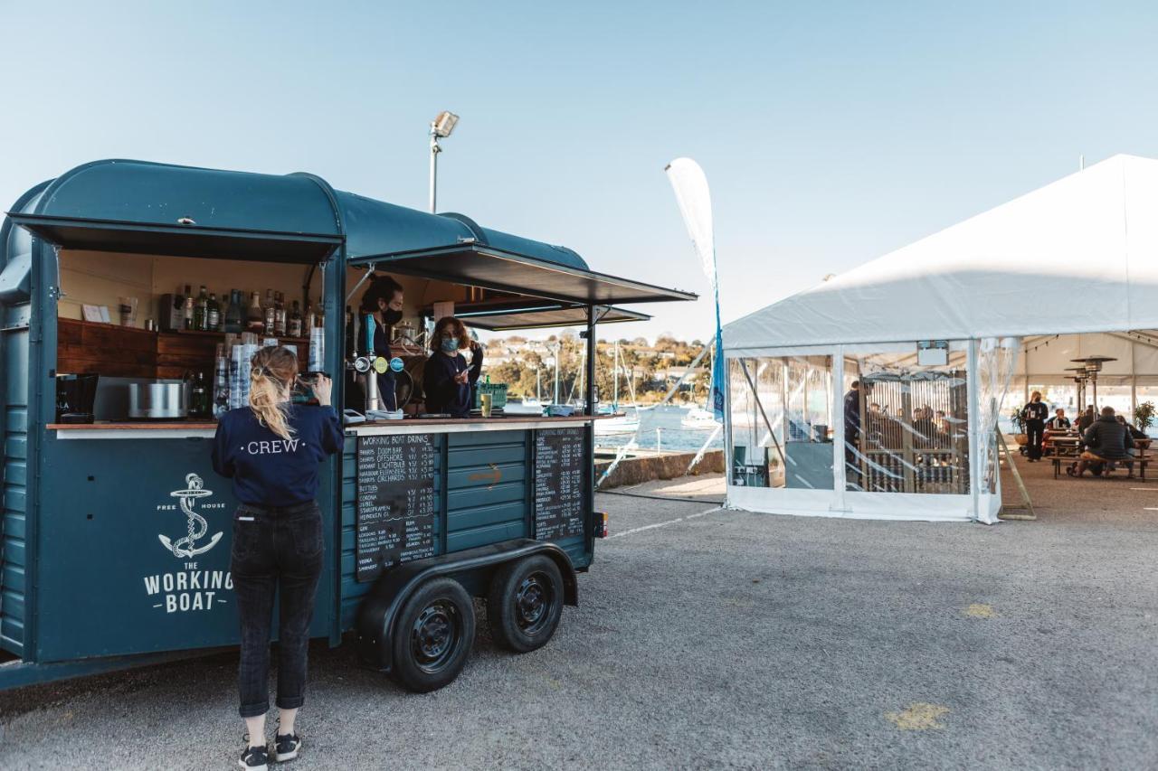
{"label": "sloping white fabric roof of the marquee tent", "polygon": [[724,329],[730,351],[1158,328],[1158,160],[1115,155]]}

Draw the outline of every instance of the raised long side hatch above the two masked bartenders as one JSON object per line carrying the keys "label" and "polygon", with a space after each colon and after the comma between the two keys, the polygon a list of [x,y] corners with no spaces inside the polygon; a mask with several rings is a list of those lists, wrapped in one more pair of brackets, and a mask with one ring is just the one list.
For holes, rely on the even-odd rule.
{"label": "raised long side hatch above the two masked bartenders", "polygon": [[471,238],[447,247],[360,257],[351,264],[375,264],[383,271],[585,306],[695,300],[697,296],[691,292],[665,289],[528,257]]}

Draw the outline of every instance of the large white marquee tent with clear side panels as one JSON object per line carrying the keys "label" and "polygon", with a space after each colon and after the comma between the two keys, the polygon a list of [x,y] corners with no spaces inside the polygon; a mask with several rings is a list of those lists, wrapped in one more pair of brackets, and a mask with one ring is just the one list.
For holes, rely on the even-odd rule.
{"label": "large white marquee tent with clear side panels", "polygon": [[1114,357],[1133,402],[1155,329],[1158,160],[1117,155],[725,326],[728,501],[995,522],[1014,369],[1060,384]]}

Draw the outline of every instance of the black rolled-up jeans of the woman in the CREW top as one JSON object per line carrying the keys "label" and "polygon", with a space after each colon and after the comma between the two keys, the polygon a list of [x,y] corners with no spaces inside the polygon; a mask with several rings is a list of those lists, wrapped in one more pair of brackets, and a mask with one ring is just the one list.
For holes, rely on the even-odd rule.
{"label": "black rolled-up jeans of the woman in the CREW top", "polygon": [[233,517],[233,586],[241,621],[241,717],[270,710],[270,626],[278,614],[278,700],[300,707],[314,596],[322,574],[322,512],[316,502],[283,508],[242,505]]}

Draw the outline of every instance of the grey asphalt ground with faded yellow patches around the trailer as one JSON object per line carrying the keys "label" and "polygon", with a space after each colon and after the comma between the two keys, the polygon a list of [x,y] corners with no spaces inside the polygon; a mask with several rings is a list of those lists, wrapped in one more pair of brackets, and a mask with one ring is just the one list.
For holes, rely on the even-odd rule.
{"label": "grey asphalt ground with faded yellow patches around the trailer", "polygon": [[[315,646],[290,768],[1156,768],[1158,484],[1109,484],[1120,517],[997,527],[601,495],[547,647],[483,631],[413,696]],[[235,666],[0,693],[0,769],[236,768]]]}

